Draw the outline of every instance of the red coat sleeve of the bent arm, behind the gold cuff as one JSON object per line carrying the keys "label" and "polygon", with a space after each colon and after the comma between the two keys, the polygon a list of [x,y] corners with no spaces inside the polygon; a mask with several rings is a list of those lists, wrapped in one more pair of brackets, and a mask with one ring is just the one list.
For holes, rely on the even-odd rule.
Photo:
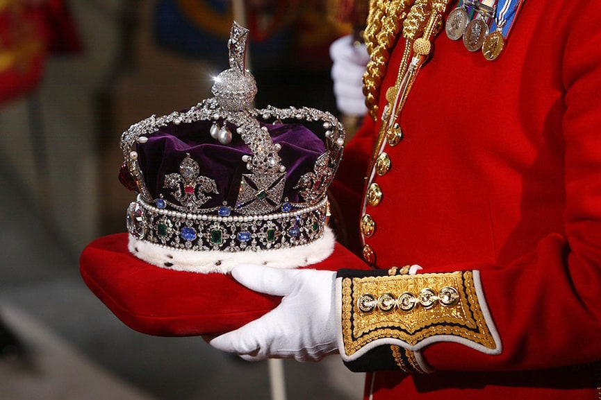
{"label": "red coat sleeve of the bent arm, behind the gold cuff", "polygon": [[[441,275],[475,271],[478,309],[488,317],[483,334],[493,344],[488,352],[444,339],[413,346],[432,369],[543,369],[601,360],[601,30],[595,15],[578,9],[566,16],[570,33],[558,44],[565,49],[565,179],[558,182],[566,193],[564,232],[541,238],[536,250],[504,266],[437,267]],[[390,354],[393,342],[385,335],[377,349]],[[368,357],[372,365],[394,366],[373,351]]]}

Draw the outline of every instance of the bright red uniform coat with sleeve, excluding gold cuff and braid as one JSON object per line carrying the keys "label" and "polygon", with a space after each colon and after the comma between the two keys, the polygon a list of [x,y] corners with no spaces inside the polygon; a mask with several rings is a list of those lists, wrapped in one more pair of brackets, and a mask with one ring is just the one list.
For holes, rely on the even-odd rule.
{"label": "bright red uniform coat with sleeve, excluding gold cuff and braid", "polygon": [[[381,269],[479,270],[502,351],[436,342],[423,356],[438,372],[368,374],[367,396],[601,398],[600,14],[598,1],[526,1],[492,62],[434,40],[398,121],[404,139],[374,178],[383,197],[365,207],[375,231],[363,244]],[[359,207],[348,196],[364,189],[378,128],[368,119],[345,150],[334,189],[346,204]]]}

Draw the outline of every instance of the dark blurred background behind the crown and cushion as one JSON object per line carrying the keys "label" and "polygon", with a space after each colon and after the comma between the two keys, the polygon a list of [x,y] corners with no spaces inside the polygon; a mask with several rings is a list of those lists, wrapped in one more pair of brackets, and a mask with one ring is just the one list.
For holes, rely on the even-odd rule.
{"label": "dark blurred background behind the crown and cushion", "polygon": [[[244,1],[257,106],[337,113],[328,47],[352,26],[330,3]],[[266,362],[131,331],[79,277],[83,247],[125,231],[121,132],[211,96],[235,12],[224,0],[0,1],[0,399],[271,398]],[[283,370],[288,399],[361,399],[363,375],[337,357]]]}

